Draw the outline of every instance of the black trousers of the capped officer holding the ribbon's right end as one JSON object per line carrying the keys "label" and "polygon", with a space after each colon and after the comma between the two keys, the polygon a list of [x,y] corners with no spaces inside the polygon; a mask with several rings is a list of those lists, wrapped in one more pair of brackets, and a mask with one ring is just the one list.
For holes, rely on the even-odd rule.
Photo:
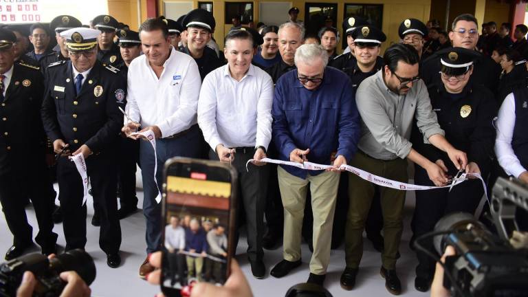
{"label": "black trousers of the capped officer holding the ribbon's right end", "polygon": [[[449,173],[455,175],[454,173]],[[423,186],[434,186],[430,181],[427,171],[420,166],[415,166],[415,183]],[[474,214],[478,203],[484,194],[482,183],[479,179],[464,181],[458,186],[434,190],[417,190],[415,213],[412,217],[414,236],[417,238],[434,229],[434,225],[445,214],[451,212],[469,212]],[[426,242],[428,250],[434,250],[432,241]],[[417,252],[418,266],[416,275],[421,278],[432,279],[435,262],[426,254]]]}

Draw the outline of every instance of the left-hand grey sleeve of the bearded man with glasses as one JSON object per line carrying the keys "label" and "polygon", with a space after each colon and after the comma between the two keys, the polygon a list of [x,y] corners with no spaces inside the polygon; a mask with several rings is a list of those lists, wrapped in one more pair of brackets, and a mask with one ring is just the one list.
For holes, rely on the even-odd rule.
{"label": "left-hand grey sleeve of the bearded man with glasses", "polygon": [[407,157],[412,144],[397,133],[393,122],[388,118],[381,104],[385,100],[383,95],[376,91],[375,88],[372,88],[371,85],[362,83],[358,88],[355,100],[356,104],[358,104],[361,118],[375,140],[384,146],[387,151],[394,153],[401,159]]}

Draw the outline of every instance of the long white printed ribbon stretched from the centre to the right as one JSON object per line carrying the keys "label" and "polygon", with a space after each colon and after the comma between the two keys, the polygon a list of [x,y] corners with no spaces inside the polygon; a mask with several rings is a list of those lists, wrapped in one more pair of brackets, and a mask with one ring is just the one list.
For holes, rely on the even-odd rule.
{"label": "long white printed ribbon stretched from the centre to the right", "polygon": [[[245,164],[246,170],[248,170],[248,164],[250,164],[250,162],[253,162],[253,161],[254,159],[250,159],[248,163]],[[311,162],[303,162],[303,164],[301,164],[297,162],[289,162],[289,161],[282,161],[278,159],[269,159],[269,158],[261,159],[260,162],[295,166],[297,168],[301,168],[305,170],[325,170],[325,169],[333,168],[333,166],[331,165],[322,165],[322,164],[316,164],[316,163],[311,163]],[[486,184],[484,180],[482,179],[481,175],[479,175],[478,173],[462,173],[458,178],[453,179],[452,184],[448,186],[419,186],[415,184],[407,184],[401,181],[394,181],[392,179],[386,179],[385,177],[373,175],[372,173],[366,172],[365,170],[362,170],[360,168],[355,168],[354,166],[350,166],[350,165],[341,165],[340,169],[346,170],[349,173],[358,175],[358,177],[361,177],[362,179],[365,179],[366,181],[370,181],[373,184],[377,184],[378,186],[394,188],[397,190],[431,190],[435,188],[452,188],[453,186],[461,184],[463,181],[467,180],[467,177],[472,176],[482,181],[482,186],[484,188],[484,195],[486,195],[486,199],[487,199]]]}

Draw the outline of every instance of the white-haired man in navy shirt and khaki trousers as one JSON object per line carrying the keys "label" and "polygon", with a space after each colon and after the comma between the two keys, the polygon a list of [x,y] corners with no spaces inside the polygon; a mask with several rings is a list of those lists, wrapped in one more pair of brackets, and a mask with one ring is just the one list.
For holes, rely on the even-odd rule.
{"label": "white-haired man in navy shirt and khaki trousers", "polygon": [[297,69],[278,80],[272,108],[272,133],[279,159],[333,165],[329,170],[278,166],[284,205],[283,260],[270,274],[281,278],[301,264],[301,229],[310,190],[314,253],[308,283],[318,285],[323,285],[330,261],[340,166],[350,162],[360,137],[350,79],[340,70],[327,67],[327,62],[327,51],[320,45],[301,45],[295,53]]}

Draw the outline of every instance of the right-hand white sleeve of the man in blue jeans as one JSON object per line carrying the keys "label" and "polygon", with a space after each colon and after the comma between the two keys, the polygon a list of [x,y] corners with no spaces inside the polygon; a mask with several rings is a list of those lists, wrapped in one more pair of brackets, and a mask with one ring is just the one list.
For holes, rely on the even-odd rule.
{"label": "right-hand white sleeve of the man in blue jeans", "polygon": [[[167,70],[166,70],[167,71]],[[156,123],[162,137],[170,136],[186,129],[186,126],[195,118],[201,78],[198,65],[194,60],[189,60],[186,72],[181,76],[179,90],[179,107],[177,111],[162,122]]]}

